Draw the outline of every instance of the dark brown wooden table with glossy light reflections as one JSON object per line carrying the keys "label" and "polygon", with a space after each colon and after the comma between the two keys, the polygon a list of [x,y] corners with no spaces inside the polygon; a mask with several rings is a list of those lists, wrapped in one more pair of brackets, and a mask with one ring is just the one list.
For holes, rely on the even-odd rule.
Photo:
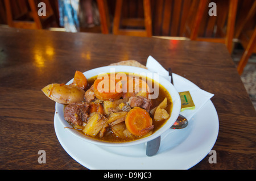
{"label": "dark brown wooden table with glossy light reflections", "polygon": [[[256,112],[224,44],[93,33],[0,28],[0,169],[86,169],[62,148],[55,102],[41,89],[121,60],[165,68],[214,94],[220,129],[209,156],[191,169],[256,169]],[[38,151],[46,151],[46,164]]]}

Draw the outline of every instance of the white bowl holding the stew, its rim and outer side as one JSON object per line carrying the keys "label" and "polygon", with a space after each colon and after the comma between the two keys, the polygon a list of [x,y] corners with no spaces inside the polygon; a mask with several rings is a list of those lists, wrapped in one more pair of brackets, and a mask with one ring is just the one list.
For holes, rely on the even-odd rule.
{"label": "white bowl holding the stew, its rim and outer side", "polygon": [[[179,93],[176,91],[175,87],[171,84],[171,82],[167,81],[167,79],[161,77],[160,75],[156,73],[152,73],[149,70],[142,69],[142,68],[137,68],[134,66],[104,66],[101,68],[96,68],[92,70],[88,70],[84,72],[84,75],[86,78],[93,77],[95,75],[101,74],[101,73],[110,73],[110,72],[126,72],[126,73],[136,73],[139,75],[146,75],[148,78],[154,79],[158,78],[158,81],[154,79],[154,81],[159,82],[160,85],[162,85],[171,95],[172,98],[172,112],[170,118],[166,121],[166,123],[159,128],[157,131],[155,131],[153,134],[150,136],[134,140],[134,141],[129,141],[129,142],[106,142],[106,141],[100,141],[96,140],[94,138],[91,138],[89,136],[86,136],[85,134],[82,134],[75,129],[69,129],[71,125],[68,124],[68,122],[64,119],[64,105],[56,103],[55,109],[57,112],[57,116],[59,117],[59,120],[63,127],[68,131],[71,132],[73,135],[75,135],[78,138],[81,138],[84,141],[90,142],[92,144],[97,144],[97,145],[102,145],[102,146],[131,146],[131,145],[137,145],[137,144],[142,144],[144,142],[153,140],[154,138],[160,136],[162,133],[167,131],[167,129],[170,129],[170,127],[175,123],[177,117],[179,116],[180,113],[180,108],[181,108],[181,101],[180,101],[180,96]],[[69,85],[70,83],[73,82],[73,79],[67,83]],[[67,128],[69,127],[69,128]]]}

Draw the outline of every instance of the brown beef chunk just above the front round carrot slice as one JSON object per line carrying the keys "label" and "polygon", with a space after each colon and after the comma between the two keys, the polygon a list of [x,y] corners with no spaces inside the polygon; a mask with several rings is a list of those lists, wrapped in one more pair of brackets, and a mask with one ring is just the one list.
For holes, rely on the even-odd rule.
{"label": "brown beef chunk just above the front round carrot slice", "polygon": [[143,96],[131,96],[128,104],[131,107],[141,107],[147,112],[150,111],[150,106],[151,106],[151,99],[147,99]]}

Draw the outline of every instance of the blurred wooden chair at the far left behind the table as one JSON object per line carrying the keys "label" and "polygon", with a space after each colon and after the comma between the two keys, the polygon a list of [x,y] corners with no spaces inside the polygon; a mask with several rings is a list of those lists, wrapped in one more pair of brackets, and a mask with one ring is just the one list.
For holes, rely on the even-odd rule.
{"label": "blurred wooden chair at the far left behind the table", "polygon": [[49,0],[46,3],[46,16],[38,15],[38,1],[5,0],[7,24],[15,28],[42,29],[55,21]]}

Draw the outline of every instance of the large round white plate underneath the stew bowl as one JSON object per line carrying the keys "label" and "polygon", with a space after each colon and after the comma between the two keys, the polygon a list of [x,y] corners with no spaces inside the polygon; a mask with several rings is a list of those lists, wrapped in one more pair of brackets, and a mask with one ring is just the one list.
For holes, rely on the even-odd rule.
{"label": "large round white plate underneath the stew bowl", "polygon": [[[179,83],[179,79],[185,80],[188,86],[194,86],[174,74],[175,84]],[[146,156],[145,144],[119,148],[82,141],[69,133],[68,128],[63,128],[56,114],[54,125],[56,136],[65,151],[88,169],[189,169],[209,153],[218,136],[218,115],[210,100],[189,120],[187,128],[173,130],[161,139],[159,151],[153,157]]]}

